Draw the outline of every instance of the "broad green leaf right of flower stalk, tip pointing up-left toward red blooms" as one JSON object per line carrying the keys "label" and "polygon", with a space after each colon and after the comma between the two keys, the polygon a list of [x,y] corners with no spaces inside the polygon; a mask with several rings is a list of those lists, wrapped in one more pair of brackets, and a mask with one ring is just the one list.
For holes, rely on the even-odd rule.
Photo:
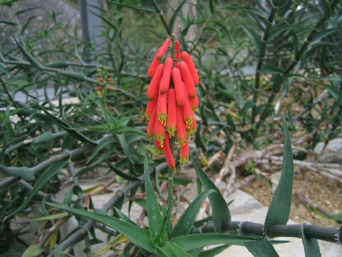
{"label": "broad green leaf right of flower stalk, tip pointing up-left toward red blooms", "polygon": [[214,226],[217,232],[222,231],[222,223],[225,221],[230,221],[230,212],[227,206],[226,201],[222,197],[222,194],[219,192],[219,189],[215,186],[214,183],[207,177],[207,174],[204,173],[201,166],[196,161],[196,158],[192,156],[190,153],[190,159],[195,166],[195,170],[199,180],[201,181],[203,187],[206,190],[212,189],[217,193],[209,195],[209,201],[212,206],[212,221],[214,222]]}

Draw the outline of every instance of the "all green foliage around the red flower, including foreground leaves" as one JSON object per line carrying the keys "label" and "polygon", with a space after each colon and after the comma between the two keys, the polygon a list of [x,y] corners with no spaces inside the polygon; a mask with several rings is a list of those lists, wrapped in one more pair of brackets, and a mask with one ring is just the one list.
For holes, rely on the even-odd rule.
{"label": "all green foliage around the red flower, including foreground leaves", "polygon": [[[265,7],[258,1],[183,0],[173,6],[173,1],[103,1],[101,6],[88,6],[102,21],[98,44],[83,41],[78,21],[69,20],[63,11],[49,13],[26,1],[0,1],[1,256],[58,256],[81,240],[91,255],[90,246],[98,238],[85,218],[130,239],[123,251],[112,248],[122,256],[135,250],[136,256],[147,256],[146,250],[160,256],[214,256],[232,244],[246,246],[254,256],[276,256],[271,243],[260,236],[224,233],[222,225],[231,221],[229,208],[195,153],[190,158],[204,191],[172,227],[172,207],[180,204],[180,196],[174,201],[169,192],[165,201],[165,159],[146,138],[142,115],[150,61],[165,37],[175,33],[182,49],[194,56],[201,78],[194,141],[202,150],[203,166],[206,158],[218,150],[228,153],[237,141],[239,148],[265,148],[279,139],[269,135],[283,134],[279,117],[286,116],[281,181],[264,232],[285,224],[294,176],[289,131],[311,135],[308,150],[342,133],[342,6],[338,0],[272,3]],[[104,77],[111,82],[98,81]],[[155,168],[155,185],[147,164]],[[207,168],[216,175],[216,166]],[[108,186],[98,182],[84,190],[79,181],[101,176],[128,182],[128,190],[119,190],[115,201],[95,210],[92,193]],[[172,178],[175,184],[190,184],[189,178],[178,176]],[[146,192],[146,200],[141,192]],[[206,198],[212,216],[196,221]],[[38,245],[26,245],[21,233],[37,236],[69,218],[45,205],[51,201],[51,206],[76,216],[79,228],[65,238],[53,231],[48,238],[39,237]],[[148,230],[130,220],[131,213],[120,211],[125,201],[147,211]],[[111,208],[120,219],[105,215]],[[35,225],[14,231],[10,224],[18,217]],[[341,213],[324,218],[341,221]],[[192,234],[210,221],[215,233]],[[79,236],[82,227],[88,231]],[[301,237],[306,256],[320,256],[316,240],[306,238],[304,231],[305,225]],[[219,243],[224,245],[202,250]]]}

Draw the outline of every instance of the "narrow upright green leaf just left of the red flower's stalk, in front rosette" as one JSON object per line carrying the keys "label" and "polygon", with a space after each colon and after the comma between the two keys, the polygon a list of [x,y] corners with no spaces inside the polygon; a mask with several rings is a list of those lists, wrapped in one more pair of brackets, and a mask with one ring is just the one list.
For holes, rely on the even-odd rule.
{"label": "narrow upright green leaf just left of the red flower's stalk, in front rosette", "polygon": [[157,243],[159,239],[160,228],[162,227],[162,214],[160,213],[159,203],[153,190],[150,173],[148,172],[148,161],[145,156],[144,161],[144,178],[146,188],[146,201],[147,201],[147,217],[148,226],[150,228],[150,239],[152,243]]}

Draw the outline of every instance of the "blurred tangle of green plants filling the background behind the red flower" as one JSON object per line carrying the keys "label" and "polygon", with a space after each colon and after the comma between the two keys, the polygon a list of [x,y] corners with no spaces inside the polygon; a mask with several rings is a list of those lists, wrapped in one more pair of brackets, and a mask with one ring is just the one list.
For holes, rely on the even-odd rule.
{"label": "blurred tangle of green plants filling the background behind the red flower", "polygon": [[81,207],[80,179],[137,181],[145,156],[152,167],[164,161],[143,114],[148,66],[172,32],[201,78],[192,148],[202,149],[204,165],[214,147],[227,154],[237,142],[244,150],[278,142],[283,114],[301,147],[295,159],[341,137],[340,1],[52,2],[0,1],[2,253],[27,248],[21,233],[34,232],[46,254],[47,242],[52,250],[63,241],[53,239],[56,228],[46,232],[51,221],[11,221],[48,215],[43,203],[66,185],[56,201]]}

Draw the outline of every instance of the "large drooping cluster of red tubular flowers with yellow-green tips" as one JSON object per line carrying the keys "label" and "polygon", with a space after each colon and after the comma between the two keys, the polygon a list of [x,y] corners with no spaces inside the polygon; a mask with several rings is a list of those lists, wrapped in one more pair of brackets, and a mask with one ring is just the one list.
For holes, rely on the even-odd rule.
{"label": "large drooping cluster of red tubular flowers with yellow-green tips", "polygon": [[[169,49],[170,55],[167,55]],[[197,126],[194,111],[199,106],[195,88],[199,85],[199,76],[190,55],[181,51],[180,42],[174,36],[166,39],[158,49],[148,76],[151,82],[145,113],[149,120],[147,136],[155,138],[155,148],[165,154],[168,166],[175,170],[170,138],[177,138],[180,163],[187,162],[188,136],[195,133]]]}

